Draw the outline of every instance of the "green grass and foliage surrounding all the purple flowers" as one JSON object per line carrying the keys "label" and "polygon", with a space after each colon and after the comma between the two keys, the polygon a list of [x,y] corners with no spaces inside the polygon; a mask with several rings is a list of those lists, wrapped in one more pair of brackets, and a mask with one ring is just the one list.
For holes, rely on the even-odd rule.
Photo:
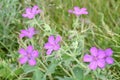
{"label": "green grass and foliage surrounding all the purple flowers", "polygon": [[[44,12],[32,20],[22,18],[25,8],[36,4]],[[83,21],[75,23],[76,16],[68,13],[74,6],[87,8]],[[20,30],[28,26],[39,33],[20,40]],[[0,80],[76,80],[76,70],[83,80],[120,80],[119,27],[120,0],[0,0]],[[43,45],[52,34],[62,36],[61,49],[46,56]],[[18,63],[18,49],[28,44],[41,53],[37,68]],[[112,48],[115,63],[104,70],[84,69],[82,57],[92,46]]]}

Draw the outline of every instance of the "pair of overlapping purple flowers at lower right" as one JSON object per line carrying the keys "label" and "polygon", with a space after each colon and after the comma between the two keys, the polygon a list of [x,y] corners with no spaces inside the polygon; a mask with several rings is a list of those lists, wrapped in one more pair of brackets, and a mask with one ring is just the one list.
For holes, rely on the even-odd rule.
{"label": "pair of overlapping purple flowers at lower right", "polygon": [[83,61],[90,62],[89,68],[92,70],[96,70],[97,67],[102,69],[102,68],[105,68],[106,64],[114,63],[114,60],[111,57],[113,54],[113,51],[111,48],[102,50],[102,49],[97,49],[96,47],[92,47],[90,49],[90,53],[91,55],[89,54],[84,55]]}

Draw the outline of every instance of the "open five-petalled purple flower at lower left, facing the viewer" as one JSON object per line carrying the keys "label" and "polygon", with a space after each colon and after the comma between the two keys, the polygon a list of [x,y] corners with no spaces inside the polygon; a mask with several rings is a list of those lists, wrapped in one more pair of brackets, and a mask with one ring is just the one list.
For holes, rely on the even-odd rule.
{"label": "open five-petalled purple flower at lower left, facing the viewer", "polygon": [[39,52],[37,50],[34,50],[32,45],[29,45],[26,49],[20,48],[18,52],[21,55],[19,58],[20,64],[25,64],[28,62],[30,66],[36,65],[35,58],[39,56]]}

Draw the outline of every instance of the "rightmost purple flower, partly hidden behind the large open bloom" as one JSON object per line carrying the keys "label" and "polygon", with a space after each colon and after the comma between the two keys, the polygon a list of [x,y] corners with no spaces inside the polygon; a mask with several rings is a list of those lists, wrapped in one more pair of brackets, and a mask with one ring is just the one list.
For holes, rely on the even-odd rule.
{"label": "rightmost purple flower, partly hidden behind the large open bloom", "polygon": [[107,64],[113,64],[113,63],[114,63],[114,60],[113,60],[113,58],[111,57],[112,54],[113,54],[112,49],[111,49],[111,48],[107,48],[107,49],[105,50],[105,54],[106,54],[106,57],[105,57],[106,63],[107,63]]}

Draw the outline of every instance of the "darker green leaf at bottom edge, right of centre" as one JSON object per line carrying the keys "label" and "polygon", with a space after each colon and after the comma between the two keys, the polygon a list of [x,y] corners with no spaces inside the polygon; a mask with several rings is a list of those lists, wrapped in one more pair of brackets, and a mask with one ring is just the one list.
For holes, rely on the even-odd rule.
{"label": "darker green leaf at bottom edge, right of centre", "polygon": [[82,69],[80,69],[79,67],[75,67],[73,69],[73,72],[75,74],[76,80],[83,80],[84,75]]}

